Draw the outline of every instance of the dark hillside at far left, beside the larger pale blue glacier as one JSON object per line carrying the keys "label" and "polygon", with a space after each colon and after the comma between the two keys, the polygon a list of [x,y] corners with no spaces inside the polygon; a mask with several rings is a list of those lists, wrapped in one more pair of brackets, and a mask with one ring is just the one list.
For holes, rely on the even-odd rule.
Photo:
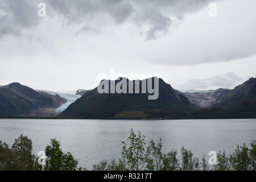
{"label": "dark hillside at far left, beside the larger pale blue glacier", "polygon": [[0,87],[0,117],[51,117],[65,102],[16,82]]}

